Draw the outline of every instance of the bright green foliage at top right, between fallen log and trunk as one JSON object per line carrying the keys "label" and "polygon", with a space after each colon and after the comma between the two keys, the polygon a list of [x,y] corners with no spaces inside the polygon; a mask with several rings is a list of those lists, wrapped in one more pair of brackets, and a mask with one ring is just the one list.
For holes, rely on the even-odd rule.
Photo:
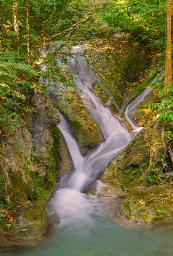
{"label": "bright green foliage at top right, between fallen log and trunk", "polygon": [[104,19],[119,32],[130,33],[132,40],[163,49],[166,8],[164,0],[117,0],[109,4]]}

